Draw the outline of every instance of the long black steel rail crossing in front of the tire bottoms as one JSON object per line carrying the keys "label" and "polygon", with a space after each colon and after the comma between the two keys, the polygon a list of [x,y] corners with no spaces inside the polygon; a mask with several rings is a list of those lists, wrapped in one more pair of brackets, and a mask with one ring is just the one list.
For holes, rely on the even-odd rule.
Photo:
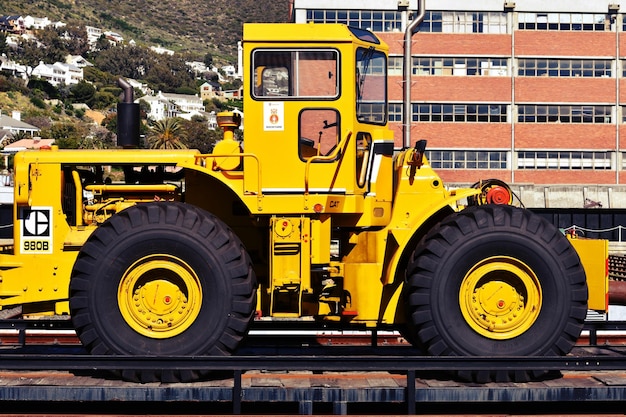
{"label": "long black steel rail crossing in front of the tire bottoms", "polygon": [[[599,348],[598,348],[599,349]],[[601,349],[603,350],[603,349]],[[208,371],[622,371],[626,350],[584,356],[412,356],[412,355],[235,355],[126,356],[76,354],[0,354],[5,370],[208,370]]]}

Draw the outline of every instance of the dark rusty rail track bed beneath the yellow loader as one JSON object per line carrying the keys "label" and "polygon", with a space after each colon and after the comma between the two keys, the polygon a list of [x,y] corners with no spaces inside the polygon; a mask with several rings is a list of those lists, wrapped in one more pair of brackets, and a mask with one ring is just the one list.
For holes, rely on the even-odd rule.
{"label": "dark rusty rail track bed beneath the yellow loader", "polygon": [[[176,414],[176,407],[185,414],[202,407],[218,414],[502,414],[556,403],[559,412],[568,410],[563,404],[570,412],[592,404],[615,412],[626,402],[625,322],[590,321],[570,355],[540,358],[424,357],[387,329],[346,332],[303,323],[296,330],[256,323],[248,344],[230,357],[92,356],[67,320],[0,325],[0,399],[31,412],[89,413],[90,406],[119,414],[116,404],[123,404],[125,410],[139,405],[142,414]],[[137,384],[111,377],[110,370],[121,369],[206,369],[214,377]],[[476,384],[451,377],[449,371],[461,369],[549,372],[529,383]]]}

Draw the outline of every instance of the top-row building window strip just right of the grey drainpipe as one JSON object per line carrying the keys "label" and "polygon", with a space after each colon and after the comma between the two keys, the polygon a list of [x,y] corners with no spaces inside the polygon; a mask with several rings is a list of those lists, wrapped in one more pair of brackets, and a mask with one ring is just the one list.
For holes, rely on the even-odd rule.
{"label": "top-row building window strip just right of the grey drainpipe", "polygon": [[506,13],[426,12],[419,32],[506,33]]}

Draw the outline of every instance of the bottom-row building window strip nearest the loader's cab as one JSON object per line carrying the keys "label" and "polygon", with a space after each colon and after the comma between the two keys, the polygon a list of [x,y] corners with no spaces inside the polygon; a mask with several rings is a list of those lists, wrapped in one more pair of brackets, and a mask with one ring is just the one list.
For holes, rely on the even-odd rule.
{"label": "bottom-row building window strip nearest the loader's cab", "polygon": [[507,169],[506,151],[427,150],[434,169]]}

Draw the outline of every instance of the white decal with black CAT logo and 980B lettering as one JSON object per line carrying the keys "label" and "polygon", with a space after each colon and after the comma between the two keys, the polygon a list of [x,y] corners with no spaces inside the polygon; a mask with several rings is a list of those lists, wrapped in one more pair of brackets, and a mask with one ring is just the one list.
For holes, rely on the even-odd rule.
{"label": "white decal with black CAT logo and 980B lettering", "polygon": [[25,207],[18,216],[20,253],[52,253],[52,207]]}

